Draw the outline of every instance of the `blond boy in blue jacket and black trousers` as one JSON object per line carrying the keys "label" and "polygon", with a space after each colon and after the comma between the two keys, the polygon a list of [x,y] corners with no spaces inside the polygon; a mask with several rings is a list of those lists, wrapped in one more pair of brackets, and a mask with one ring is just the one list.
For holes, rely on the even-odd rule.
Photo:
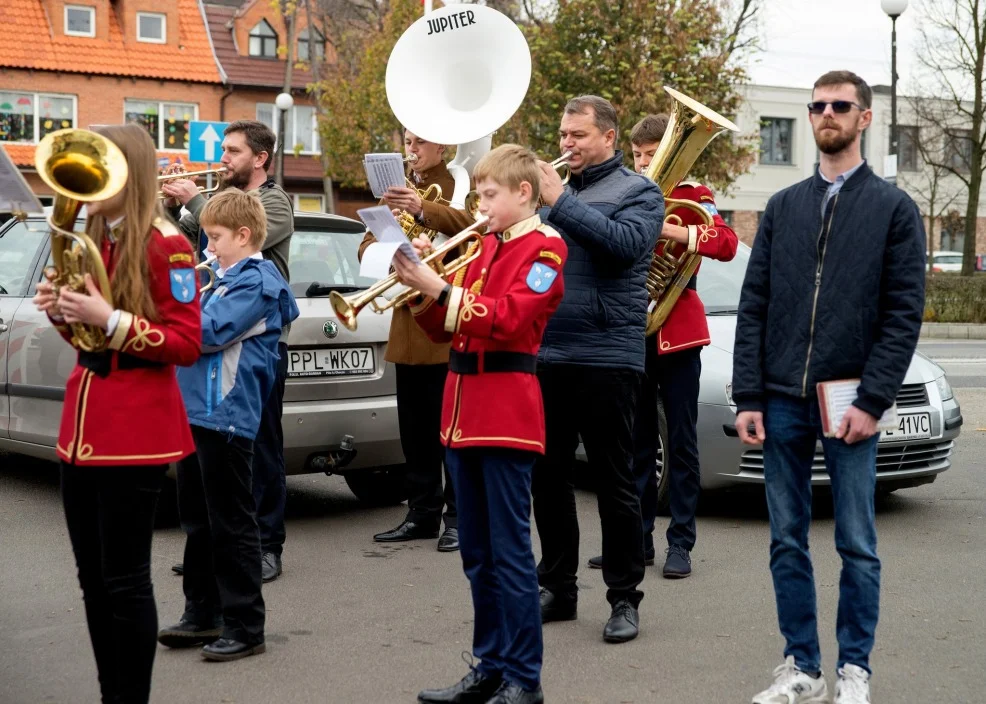
{"label": "blond boy in blue jacket and black trousers", "polygon": [[201,299],[202,356],[178,370],[196,449],[178,465],[185,613],[158,641],[172,648],[205,644],[202,657],[225,661],[265,650],[250,467],[277,340],[298,306],[260,253],[266,217],[259,198],[230,188],[209,200],[200,223],[216,279]]}

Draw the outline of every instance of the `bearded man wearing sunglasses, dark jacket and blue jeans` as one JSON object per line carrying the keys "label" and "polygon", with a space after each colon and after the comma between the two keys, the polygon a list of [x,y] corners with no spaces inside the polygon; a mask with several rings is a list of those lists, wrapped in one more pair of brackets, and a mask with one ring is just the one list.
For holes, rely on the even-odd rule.
{"label": "bearded man wearing sunglasses, dark jacket and blue jeans", "polygon": [[[880,600],[877,420],[893,405],[917,345],[925,266],[917,207],[860,154],[871,100],[849,71],[815,82],[808,111],[818,168],[767,203],[740,297],[736,430],[744,443],[763,444],[770,571],[786,641],[784,664],[753,704],[828,701],[808,553],[818,440],[842,557],[835,704],[870,704]],[[861,380],[856,398],[835,437],[822,437],[816,384],[844,379]]]}

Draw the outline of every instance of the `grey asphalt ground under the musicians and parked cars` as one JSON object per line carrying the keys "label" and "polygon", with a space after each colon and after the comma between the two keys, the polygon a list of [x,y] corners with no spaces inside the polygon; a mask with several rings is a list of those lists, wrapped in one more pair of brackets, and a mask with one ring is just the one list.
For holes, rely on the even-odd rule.
{"label": "grey asphalt ground under the musicians and parked cars", "polygon": [[[928,342],[943,361],[965,426],[953,467],[934,484],[878,503],[883,599],[872,657],[876,704],[981,704],[986,662],[986,343]],[[972,361],[955,361],[972,360]],[[953,373],[955,376],[953,376]],[[969,384],[984,379],[977,387]],[[284,574],[264,586],[264,655],[206,663],[159,648],[151,701],[399,704],[450,684],[466,666],[472,607],[456,553],[435,541],[372,542],[401,507],[362,507],[338,477],[288,480]],[[160,619],[182,611],[173,495],[153,547]],[[812,549],[823,667],[835,677],[839,558],[831,506],[816,500]],[[600,546],[594,496],[578,495],[582,560]],[[602,640],[597,570],[580,569],[579,618],[544,628],[548,702],[749,702],[782,660],[762,493],[703,497],[694,575],[648,568],[641,635]],[[537,552],[537,540],[535,548]],[[96,702],[96,671],[53,467],[0,455],[0,703]],[[660,561],[659,561],[660,564]]]}

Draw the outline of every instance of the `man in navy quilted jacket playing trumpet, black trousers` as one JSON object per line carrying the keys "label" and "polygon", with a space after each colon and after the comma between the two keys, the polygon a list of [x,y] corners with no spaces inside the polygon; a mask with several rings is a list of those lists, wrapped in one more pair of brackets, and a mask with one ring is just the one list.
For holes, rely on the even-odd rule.
{"label": "man in navy quilted jacket playing trumpet, black trousers", "polygon": [[598,476],[603,579],[612,614],[607,642],[636,638],[644,577],[643,526],[633,477],[632,430],[644,372],[647,269],[664,220],[657,185],[623,165],[612,104],[569,101],[561,151],[571,152],[567,186],[542,163],[541,218],[568,244],[565,297],[538,355],[546,454],[532,480],[541,537],[541,619],[576,617],[579,525],[572,468],[579,436]]}

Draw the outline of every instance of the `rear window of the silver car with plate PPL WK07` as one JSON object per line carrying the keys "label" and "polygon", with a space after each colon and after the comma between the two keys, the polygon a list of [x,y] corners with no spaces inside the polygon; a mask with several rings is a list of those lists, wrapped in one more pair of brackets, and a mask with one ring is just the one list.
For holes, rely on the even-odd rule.
{"label": "rear window of the silver car with plate PPL WK07", "polygon": [[331,291],[345,293],[373,284],[374,279],[359,275],[357,251],[362,240],[361,232],[295,230],[288,264],[291,290],[296,296],[326,296]]}

